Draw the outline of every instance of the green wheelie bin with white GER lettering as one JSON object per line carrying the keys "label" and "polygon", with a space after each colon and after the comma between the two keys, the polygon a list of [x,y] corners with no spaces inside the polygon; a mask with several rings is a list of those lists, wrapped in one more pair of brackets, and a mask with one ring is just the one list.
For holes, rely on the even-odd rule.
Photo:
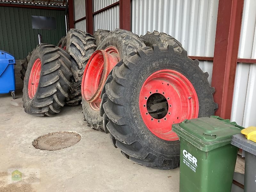
{"label": "green wheelie bin with white GER lettering", "polygon": [[180,192],[230,192],[238,151],[231,139],[241,129],[219,116],[172,125],[180,138]]}

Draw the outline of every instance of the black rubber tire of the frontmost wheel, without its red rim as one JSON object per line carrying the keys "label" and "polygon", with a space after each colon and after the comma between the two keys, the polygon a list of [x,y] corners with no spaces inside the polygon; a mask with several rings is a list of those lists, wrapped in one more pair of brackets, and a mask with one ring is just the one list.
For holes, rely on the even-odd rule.
{"label": "black rubber tire of the frontmost wheel, without its red rim", "polygon": [[[153,45],[126,56],[108,76],[102,92],[101,115],[103,127],[122,154],[134,162],[159,168],[179,166],[180,142],[158,138],[144,124],[139,109],[139,94],[146,78],[160,69],[173,69],[186,76],[193,84],[199,99],[199,116],[211,116],[218,108],[213,101],[215,89],[199,68],[198,60],[191,60],[187,52],[174,51],[168,45]],[[171,125],[170,125],[171,126]]]}

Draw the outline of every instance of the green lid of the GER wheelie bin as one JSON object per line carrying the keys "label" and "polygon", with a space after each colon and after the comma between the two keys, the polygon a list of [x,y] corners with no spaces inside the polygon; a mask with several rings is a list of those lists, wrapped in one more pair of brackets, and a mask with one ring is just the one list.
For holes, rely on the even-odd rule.
{"label": "green lid of the GER wheelie bin", "polygon": [[172,124],[177,135],[202,151],[211,151],[231,143],[232,135],[244,127],[219,116],[201,117]]}

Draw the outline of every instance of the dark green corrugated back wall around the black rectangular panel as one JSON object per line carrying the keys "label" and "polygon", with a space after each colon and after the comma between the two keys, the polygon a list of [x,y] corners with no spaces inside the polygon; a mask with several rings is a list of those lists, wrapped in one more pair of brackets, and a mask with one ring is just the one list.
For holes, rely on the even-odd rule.
{"label": "dark green corrugated back wall around the black rectangular panel", "polygon": [[[57,45],[66,35],[65,11],[17,7],[0,7],[0,50],[10,52],[15,59],[24,59],[38,44],[37,34],[42,42]],[[56,18],[56,30],[32,29],[31,15]]]}

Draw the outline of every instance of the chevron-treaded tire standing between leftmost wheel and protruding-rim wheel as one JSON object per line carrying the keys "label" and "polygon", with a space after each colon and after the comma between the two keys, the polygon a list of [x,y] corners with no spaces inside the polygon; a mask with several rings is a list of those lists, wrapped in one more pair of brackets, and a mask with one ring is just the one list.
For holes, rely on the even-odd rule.
{"label": "chevron-treaded tire standing between leftmost wheel and protruding-rim wheel", "polygon": [[81,83],[84,68],[97,46],[95,45],[95,38],[91,34],[78,29],[70,29],[63,42],[72,62],[71,87],[65,104],[73,106],[81,103]]}

